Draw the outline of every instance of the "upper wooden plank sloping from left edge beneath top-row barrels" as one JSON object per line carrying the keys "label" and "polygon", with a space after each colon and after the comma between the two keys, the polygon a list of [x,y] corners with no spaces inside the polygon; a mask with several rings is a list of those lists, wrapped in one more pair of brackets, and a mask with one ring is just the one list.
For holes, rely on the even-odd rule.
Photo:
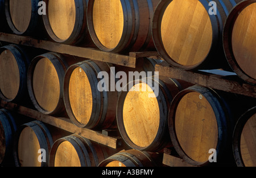
{"label": "upper wooden plank sloping from left edge beneath top-row barrels", "polygon": [[115,63],[117,65],[122,65],[127,67],[135,68],[135,65],[136,65],[136,57],[137,57],[136,55],[126,56],[122,54],[102,52],[101,50],[98,50],[98,49],[60,44],[52,41],[38,40],[32,37],[13,35],[13,34],[2,33],[2,32],[0,32],[0,41],[6,41],[13,44],[31,46],[34,48],[45,49],[52,52],[69,54],[72,56],[77,56],[82,58],[88,58],[90,60]]}

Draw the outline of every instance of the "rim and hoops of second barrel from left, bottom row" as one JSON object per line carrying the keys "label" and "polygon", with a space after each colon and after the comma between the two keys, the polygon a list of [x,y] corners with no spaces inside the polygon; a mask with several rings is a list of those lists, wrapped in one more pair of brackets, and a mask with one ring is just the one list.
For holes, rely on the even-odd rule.
{"label": "rim and hoops of second barrel from left, bottom row", "polygon": [[[46,150],[46,162],[42,162],[41,167],[48,167],[49,152],[53,145],[53,140],[47,126],[41,121],[28,122],[26,124],[19,126],[19,128],[16,130],[16,133],[14,136],[14,145],[13,145],[13,155],[14,155],[15,166],[16,167],[21,166],[19,162],[19,155],[18,155],[18,142],[19,142],[20,133],[26,127],[31,128],[35,132],[36,137],[38,138],[38,141],[40,144],[40,149]],[[38,150],[36,150],[36,152],[38,152]]]}

